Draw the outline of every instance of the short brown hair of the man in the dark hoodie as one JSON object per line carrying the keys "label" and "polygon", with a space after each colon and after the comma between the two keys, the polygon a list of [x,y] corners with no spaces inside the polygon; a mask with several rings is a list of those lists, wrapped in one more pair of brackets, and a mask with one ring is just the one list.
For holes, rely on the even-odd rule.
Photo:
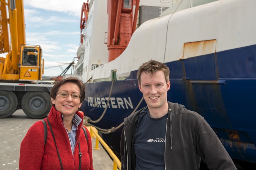
{"label": "short brown hair of the man in the dark hoodie", "polygon": [[155,61],[155,60],[150,60],[147,61],[145,63],[143,63],[137,72],[137,79],[138,79],[138,83],[141,84],[141,74],[142,72],[146,73],[151,73],[151,75],[157,71],[163,71],[164,72],[164,76],[165,76],[165,81],[168,82],[169,81],[169,75],[170,75],[170,69],[169,67],[167,67],[167,65],[165,65],[165,63],[159,62],[159,61]]}

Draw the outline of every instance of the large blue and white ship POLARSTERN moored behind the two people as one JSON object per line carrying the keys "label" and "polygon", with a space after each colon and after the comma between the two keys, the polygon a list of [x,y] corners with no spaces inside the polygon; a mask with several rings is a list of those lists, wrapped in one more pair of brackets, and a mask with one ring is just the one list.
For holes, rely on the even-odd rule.
{"label": "large blue and white ship POLARSTERN moored behind the two people", "polygon": [[82,7],[74,74],[85,83],[88,123],[118,152],[124,118],[146,106],[138,67],[157,60],[170,68],[168,101],[202,115],[232,159],[256,163],[256,1],[118,2]]}

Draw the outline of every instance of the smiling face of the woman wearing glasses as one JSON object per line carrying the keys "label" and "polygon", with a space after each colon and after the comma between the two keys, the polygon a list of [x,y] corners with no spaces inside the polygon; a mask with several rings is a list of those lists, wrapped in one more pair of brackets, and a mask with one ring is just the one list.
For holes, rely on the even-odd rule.
{"label": "smiling face of the woman wearing glasses", "polygon": [[80,95],[79,86],[71,82],[66,82],[59,87],[57,93],[59,92],[67,93],[69,95],[67,98],[63,98],[61,95],[57,94],[55,99],[52,98],[52,104],[55,105],[56,110],[63,115],[74,114],[78,108],[81,107],[82,103],[80,103],[80,99],[73,99],[71,94]]}

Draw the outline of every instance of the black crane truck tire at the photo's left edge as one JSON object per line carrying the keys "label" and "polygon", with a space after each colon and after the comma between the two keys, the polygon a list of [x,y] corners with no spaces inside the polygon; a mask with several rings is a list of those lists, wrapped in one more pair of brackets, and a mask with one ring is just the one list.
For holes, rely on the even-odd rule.
{"label": "black crane truck tire at the photo's left edge", "polygon": [[17,107],[18,99],[12,91],[0,91],[0,118],[9,117]]}

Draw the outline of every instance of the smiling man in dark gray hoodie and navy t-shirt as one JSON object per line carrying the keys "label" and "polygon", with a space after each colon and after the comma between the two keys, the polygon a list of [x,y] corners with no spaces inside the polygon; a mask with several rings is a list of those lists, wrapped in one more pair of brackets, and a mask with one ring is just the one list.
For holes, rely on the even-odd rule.
{"label": "smiling man in dark gray hoodie and navy t-shirt", "polygon": [[169,68],[143,63],[137,73],[147,107],[124,119],[122,170],[199,170],[203,159],[214,170],[236,170],[215,132],[198,113],[167,101]]}

